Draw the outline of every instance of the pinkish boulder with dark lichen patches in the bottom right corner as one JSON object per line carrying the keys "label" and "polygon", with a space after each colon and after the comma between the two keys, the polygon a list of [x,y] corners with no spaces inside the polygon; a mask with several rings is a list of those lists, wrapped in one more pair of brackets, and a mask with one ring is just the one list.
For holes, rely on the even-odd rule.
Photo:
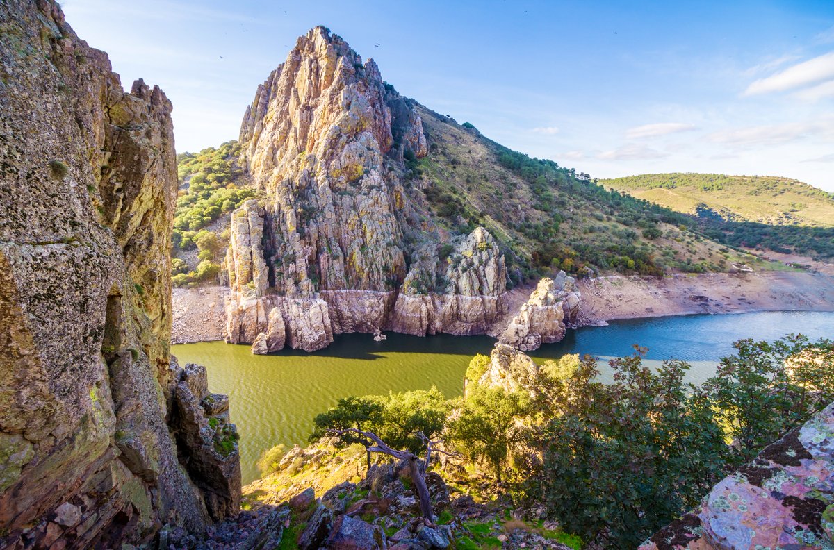
{"label": "pinkish boulder with dark lichen patches in the bottom right corner", "polygon": [[725,478],[641,546],[827,548],[834,542],[834,403]]}

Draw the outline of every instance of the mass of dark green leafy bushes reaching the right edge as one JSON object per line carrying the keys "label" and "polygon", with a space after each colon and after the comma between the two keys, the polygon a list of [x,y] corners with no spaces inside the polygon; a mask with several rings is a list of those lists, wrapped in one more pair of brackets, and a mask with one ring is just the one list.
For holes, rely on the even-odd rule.
{"label": "mass of dark green leafy bushes reaching the right edge", "polygon": [[[689,364],[656,371],[631,358],[610,362],[599,382],[593,358],[544,400],[551,408],[530,447],[540,463],[526,482],[570,532],[601,547],[636,547],[719,479],[834,401],[834,344],[787,337],[741,340],[701,386]],[[733,443],[733,444],[728,444]]]}

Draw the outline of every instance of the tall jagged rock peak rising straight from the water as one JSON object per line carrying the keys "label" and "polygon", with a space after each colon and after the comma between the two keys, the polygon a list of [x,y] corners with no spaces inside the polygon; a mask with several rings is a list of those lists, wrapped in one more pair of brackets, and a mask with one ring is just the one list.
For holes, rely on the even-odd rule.
{"label": "tall jagged rock peak rising straight from the water", "polygon": [[485,333],[505,313],[495,238],[476,228],[440,258],[439,232],[402,183],[404,156],[428,153],[414,102],[340,37],[299,37],[239,141],[264,198],[232,217],[229,342],[269,353],[338,333]]}

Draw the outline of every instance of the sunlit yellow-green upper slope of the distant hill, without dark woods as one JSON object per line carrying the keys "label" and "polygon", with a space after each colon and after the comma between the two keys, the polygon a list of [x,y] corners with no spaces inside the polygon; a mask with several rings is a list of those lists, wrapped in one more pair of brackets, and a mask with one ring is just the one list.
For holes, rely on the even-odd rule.
{"label": "sunlit yellow-green upper slope of the distant hill, without dark woods", "polygon": [[600,183],[700,218],[834,227],[834,194],[795,179],[669,173],[605,179]]}

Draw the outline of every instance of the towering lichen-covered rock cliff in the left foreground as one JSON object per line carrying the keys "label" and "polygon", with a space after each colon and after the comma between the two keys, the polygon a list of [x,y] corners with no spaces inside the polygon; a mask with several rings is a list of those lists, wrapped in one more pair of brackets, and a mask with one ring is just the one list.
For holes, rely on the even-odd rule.
{"label": "towering lichen-covered rock cliff in the left foreground", "polygon": [[234,428],[169,356],[170,113],[53,0],[0,2],[0,547],[119,547],[238,507]]}

